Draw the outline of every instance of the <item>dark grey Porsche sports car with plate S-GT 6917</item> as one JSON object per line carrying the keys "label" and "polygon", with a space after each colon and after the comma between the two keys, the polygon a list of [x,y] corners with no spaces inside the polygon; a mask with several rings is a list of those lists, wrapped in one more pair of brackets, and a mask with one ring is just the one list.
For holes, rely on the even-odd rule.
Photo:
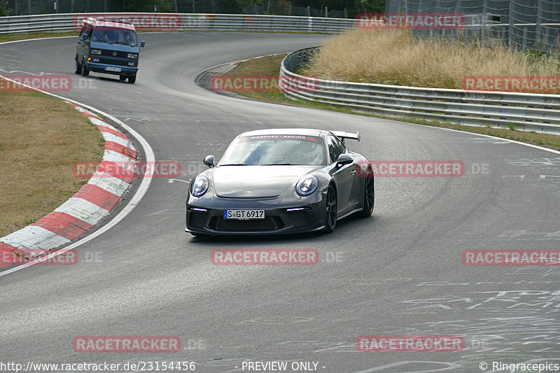
{"label": "dark grey Porsche sports car with plate S-GT 6917", "polygon": [[282,234],[325,230],[374,206],[373,171],[344,146],[358,133],[260,129],[237,136],[190,181],[186,232]]}

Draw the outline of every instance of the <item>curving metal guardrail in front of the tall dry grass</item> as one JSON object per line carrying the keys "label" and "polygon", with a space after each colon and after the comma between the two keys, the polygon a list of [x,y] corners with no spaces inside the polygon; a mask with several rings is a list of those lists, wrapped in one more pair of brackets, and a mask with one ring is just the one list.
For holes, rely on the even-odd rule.
{"label": "curving metal guardrail in front of the tall dry grass", "polygon": [[559,94],[350,83],[295,73],[317,50],[318,47],[297,50],[283,59],[279,88],[287,97],[397,118],[560,134]]}

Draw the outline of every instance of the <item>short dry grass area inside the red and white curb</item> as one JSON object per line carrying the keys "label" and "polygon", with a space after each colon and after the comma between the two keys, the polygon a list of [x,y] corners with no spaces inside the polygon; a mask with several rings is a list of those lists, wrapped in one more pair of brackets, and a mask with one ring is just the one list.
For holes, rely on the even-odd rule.
{"label": "short dry grass area inside the red and white curb", "polygon": [[45,94],[0,92],[0,133],[0,237],[52,212],[87,182],[73,176],[74,162],[103,157],[97,127]]}

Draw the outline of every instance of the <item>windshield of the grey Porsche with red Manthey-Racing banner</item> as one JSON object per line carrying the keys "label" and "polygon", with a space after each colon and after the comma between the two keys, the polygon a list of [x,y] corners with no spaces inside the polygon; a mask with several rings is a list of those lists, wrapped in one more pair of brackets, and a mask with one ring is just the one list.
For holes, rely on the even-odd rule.
{"label": "windshield of the grey Porsche with red Manthey-Racing banner", "polygon": [[304,135],[244,136],[231,143],[219,165],[256,164],[325,164],[323,139]]}

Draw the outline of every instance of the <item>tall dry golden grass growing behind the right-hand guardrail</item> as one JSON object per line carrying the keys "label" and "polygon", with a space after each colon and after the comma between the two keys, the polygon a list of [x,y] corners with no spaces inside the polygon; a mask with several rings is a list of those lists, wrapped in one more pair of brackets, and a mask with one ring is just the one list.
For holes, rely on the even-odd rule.
{"label": "tall dry golden grass growing behind the right-hand guardrail", "polygon": [[302,73],[330,80],[462,88],[465,76],[558,76],[558,57],[502,46],[413,38],[409,30],[357,29],[329,38]]}

